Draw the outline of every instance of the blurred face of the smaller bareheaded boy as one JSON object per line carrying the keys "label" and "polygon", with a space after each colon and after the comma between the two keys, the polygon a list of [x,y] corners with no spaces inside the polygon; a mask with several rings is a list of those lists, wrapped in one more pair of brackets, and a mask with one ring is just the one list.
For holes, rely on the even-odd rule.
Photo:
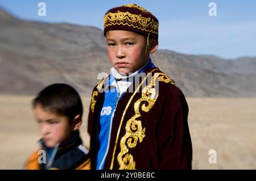
{"label": "blurred face of the smaller bareheaded boy", "polygon": [[68,117],[44,110],[40,104],[35,106],[34,113],[39,123],[40,134],[42,134],[44,144],[48,148],[52,148],[60,142],[68,141],[71,138],[74,127],[69,123]]}

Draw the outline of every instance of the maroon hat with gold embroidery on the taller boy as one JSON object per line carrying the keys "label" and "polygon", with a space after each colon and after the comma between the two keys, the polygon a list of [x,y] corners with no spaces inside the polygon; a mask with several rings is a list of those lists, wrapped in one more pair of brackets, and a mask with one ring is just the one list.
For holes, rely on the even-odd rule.
{"label": "maroon hat with gold embroidery on the taller boy", "polygon": [[158,19],[135,4],[118,6],[104,16],[104,35],[109,30],[133,31],[158,40]]}

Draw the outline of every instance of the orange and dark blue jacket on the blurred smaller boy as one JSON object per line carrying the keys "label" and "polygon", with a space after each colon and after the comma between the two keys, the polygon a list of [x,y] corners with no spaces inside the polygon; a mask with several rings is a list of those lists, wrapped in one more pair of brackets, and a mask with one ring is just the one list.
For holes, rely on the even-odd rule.
{"label": "orange and dark blue jacket on the blurred smaller boy", "polygon": [[[36,150],[27,160],[24,169],[27,170],[89,170],[90,161],[88,149],[82,145],[79,131],[73,134],[71,140],[56,145],[51,157],[43,140],[40,140],[42,147]],[[45,157],[45,158],[44,158]]]}

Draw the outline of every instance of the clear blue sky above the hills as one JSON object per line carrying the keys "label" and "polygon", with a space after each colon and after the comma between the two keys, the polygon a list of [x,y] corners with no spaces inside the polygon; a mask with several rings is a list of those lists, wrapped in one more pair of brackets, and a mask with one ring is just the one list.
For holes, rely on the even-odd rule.
{"label": "clear blue sky above the hills", "polygon": [[[38,16],[38,3],[46,16]],[[217,16],[209,16],[210,2]],[[102,29],[103,16],[112,7],[136,3],[159,20],[159,48],[186,54],[213,54],[223,58],[256,56],[256,1],[82,1],[0,0],[0,6],[21,19],[68,22]]]}

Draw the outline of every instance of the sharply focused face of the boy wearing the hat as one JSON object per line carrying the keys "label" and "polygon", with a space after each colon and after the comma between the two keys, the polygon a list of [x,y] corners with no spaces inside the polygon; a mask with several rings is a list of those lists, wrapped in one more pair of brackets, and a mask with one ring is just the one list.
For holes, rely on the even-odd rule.
{"label": "sharply focused face of the boy wearing the hat", "polygon": [[146,38],[138,33],[123,30],[106,32],[110,63],[119,73],[134,73],[146,64]]}

